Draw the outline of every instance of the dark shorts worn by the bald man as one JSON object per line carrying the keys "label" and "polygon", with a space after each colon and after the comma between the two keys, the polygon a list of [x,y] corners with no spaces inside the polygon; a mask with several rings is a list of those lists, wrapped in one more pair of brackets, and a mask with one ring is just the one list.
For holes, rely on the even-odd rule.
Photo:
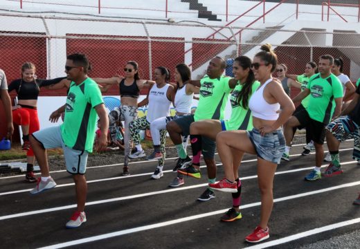
{"label": "dark shorts worn by the bald man", "polygon": [[[190,125],[192,122],[195,122],[194,115],[183,115],[179,118],[172,120],[179,125],[181,128],[181,135],[188,136],[190,135]],[[215,156],[216,142],[213,139],[210,139],[206,136],[201,137],[201,152],[206,159],[213,159]]]}

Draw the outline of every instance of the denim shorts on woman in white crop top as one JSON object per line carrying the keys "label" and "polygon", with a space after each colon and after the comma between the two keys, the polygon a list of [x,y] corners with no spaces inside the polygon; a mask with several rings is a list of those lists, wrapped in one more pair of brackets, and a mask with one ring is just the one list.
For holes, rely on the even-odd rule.
{"label": "denim shorts on woman in white crop top", "polygon": [[271,163],[280,163],[281,156],[285,152],[285,137],[282,129],[267,133],[265,136],[261,136],[260,131],[255,128],[246,133],[260,158]]}

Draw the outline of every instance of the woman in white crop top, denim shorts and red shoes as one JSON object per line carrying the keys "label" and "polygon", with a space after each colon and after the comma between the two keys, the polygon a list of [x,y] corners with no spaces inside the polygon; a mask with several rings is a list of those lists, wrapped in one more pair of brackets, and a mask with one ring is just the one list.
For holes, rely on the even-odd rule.
{"label": "woman in white crop top, denim shorts and red shoes", "polygon": [[[258,91],[253,93],[249,102],[254,128],[252,131],[223,131],[217,135],[217,150],[224,165],[226,178],[218,183],[209,184],[214,190],[237,192],[231,162],[232,151],[235,149],[258,156],[260,224],[245,238],[252,243],[269,238],[267,223],[273,208],[273,177],[285,151],[285,138],[280,127],[295,110],[280,82],[271,78],[277,64],[277,57],[271,50],[271,45],[262,45],[261,50],[255,55],[251,65],[255,79],[260,82]],[[280,115],[279,109],[282,110]]]}

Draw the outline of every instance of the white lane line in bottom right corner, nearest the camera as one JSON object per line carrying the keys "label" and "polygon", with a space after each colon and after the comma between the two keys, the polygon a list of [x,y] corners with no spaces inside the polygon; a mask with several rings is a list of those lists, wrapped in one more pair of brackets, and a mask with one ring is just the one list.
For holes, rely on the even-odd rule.
{"label": "white lane line in bottom right corner, nearest the camera", "polygon": [[348,220],[348,221],[342,221],[342,222],[334,223],[334,224],[331,224],[331,225],[325,225],[325,226],[323,226],[321,228],[314,228],[312,230],[308,230],[308,231],[305,231],[305,232],[300,232],[298,234],[294,234],[294,235],[291,235],[291,236],[288,236],[288,237],[285,237],[285,238],[282,238],[282,239],[276,239],[276,240],[269,241],[269,242],[266,242],[266,243],[260,243],[260,244],[258,244],[256,246],[249,246],[247,248],[260,249],[260,248],[268,248],[270,246],[278,246],[278,245],[280,245],[282,243],[287,243],[287,242],[290,242],[290,241],[294,241],[296,239],[309,237],[309,236],[312,236],[314,234],[318,234],[318,233],[326,232],[326,231],[330,231],[330,230],[335,230],[336,228],[342,228],[342,227],[344,227],[346,225],[353,225],[353,224],[356,224],[356,223],[360,223],[360,218],[351,219],[351,220]]}

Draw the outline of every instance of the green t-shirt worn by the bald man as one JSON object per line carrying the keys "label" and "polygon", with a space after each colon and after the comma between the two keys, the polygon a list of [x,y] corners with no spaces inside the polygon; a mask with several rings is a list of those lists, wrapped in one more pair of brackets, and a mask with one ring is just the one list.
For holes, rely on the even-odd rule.
{"label": "green t-shirt worn by the bald man", "polygon": [[210,79],[208,75],[200,80],[199,104],[195,111],[194,120],[224,119],[224,110],[228,95],[233,90],[228,86],[231,77],[221,76]]}

